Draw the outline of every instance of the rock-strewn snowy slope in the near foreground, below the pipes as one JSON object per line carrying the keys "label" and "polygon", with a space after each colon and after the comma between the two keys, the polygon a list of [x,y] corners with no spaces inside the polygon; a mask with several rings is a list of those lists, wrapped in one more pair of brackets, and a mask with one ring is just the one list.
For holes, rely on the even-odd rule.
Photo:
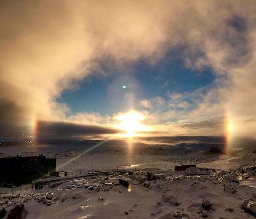
{"label": "rock-strewn snowy slope in the near foreground, below the pipes", "polygon": [[26,219],[254,218],[247,209],[249,204],[245,210],[242,203],[246,200],[253,204],[256,189],[238,184],[232,176],[217,173],[173,178],[170,171],[162,173],[166,179],[162,175],[148,180],[146,172],[138,171],[74,180],[54,188],[26,191],[19,197],[2,195],[0,203],[6,214],[16,206],[24,207],[22,216]]}

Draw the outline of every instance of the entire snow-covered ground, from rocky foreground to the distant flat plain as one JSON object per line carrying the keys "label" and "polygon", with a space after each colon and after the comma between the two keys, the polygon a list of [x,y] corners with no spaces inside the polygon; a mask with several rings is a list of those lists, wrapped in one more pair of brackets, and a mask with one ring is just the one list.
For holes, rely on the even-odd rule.
{"label": "entire snow-covered ground, from rocky foreground to the distant flat plain", "polygon": [[[2,149],[2,157],[17,155],[13,149]],[[7,210],[6,215],[15,207],[16,210],[24,207],[23,219],[254,218],[256,154],[252,153],[253,150],[241,149],[237,155],[214,155],[205,150],[171,147],[105,150],[89,154],[84,150],[52,150],[44,155],[57,158],[57,170],[61,174],[69,171],[70,176],[91,169],[116,169],[117,166],[119,170],[132,170],[134,174],[94,176],[55,187],[23,191],[21,196],[18,190],[17,196],[1,195],[0,216],[3,207]],[[35,156],[38,152],[20,148],[18,151],[22,156]],[[177,164],[197,164],[198,167],[218,170],[210,176],[185,176],[187,171],[174,171]],[[148,180],[145,170],[162,173],[166,179],[159,175],[160,179]],[[122,177],[131,179],[131,187],[119,184]],[[240,178],[239,184],[237,179]],[[93,187],[89,189],[91,185]]]}

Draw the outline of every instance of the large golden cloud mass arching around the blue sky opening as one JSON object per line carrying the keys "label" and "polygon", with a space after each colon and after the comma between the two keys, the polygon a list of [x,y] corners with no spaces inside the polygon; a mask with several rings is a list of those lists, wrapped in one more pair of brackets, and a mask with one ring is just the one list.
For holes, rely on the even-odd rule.
{"label": "large golden cloud mass arching around the blue sky opening", "polygon": [[[256,122],[238,118],[255,116],[255,4],[240,0],[1,1],[0,100],[22,109],[14,109],[14,124],[13,118],[30,122],[35,116],[67,120],[70,109],[56,98],[96,70],[105,74],[103,62],[122,72],[140,59],[153,65],[172,51],[187,68],[209,67],[217,78],[225,78],[202,94],[189,114],[174,114],[228,113],[238,126],[250,128],[243,134],[252,135]],[[173,93],[169,97],[181,98]],[[160,106],[160,98],[155,100],[158,104],[154,100],[141,104],[149,109]]]}

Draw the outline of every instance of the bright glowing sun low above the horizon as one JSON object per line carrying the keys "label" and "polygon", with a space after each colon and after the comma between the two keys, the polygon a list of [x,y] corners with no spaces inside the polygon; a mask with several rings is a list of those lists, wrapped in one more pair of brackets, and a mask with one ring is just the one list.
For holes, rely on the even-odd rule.
{"label": "bright glowing sun low above the horizon", "polygon": [[138,136],[137,132],[148,131],[148,127],[140,124],[141,120],[145,119],[145,116],[134,110],[125,114],[119,114],[114,117],[115,120],[119,121],[115,127],[125,130],[124,137]]}

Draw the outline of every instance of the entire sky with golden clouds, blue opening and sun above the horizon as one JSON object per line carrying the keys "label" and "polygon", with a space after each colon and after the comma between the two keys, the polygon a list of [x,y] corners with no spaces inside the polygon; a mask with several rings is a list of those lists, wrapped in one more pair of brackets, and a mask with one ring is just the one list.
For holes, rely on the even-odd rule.
{"label": "entire sky with golden clouds, blue opening and sun above the horizon", "polygon": [[0,137],[256,134],[256,2],[1,1]]}

